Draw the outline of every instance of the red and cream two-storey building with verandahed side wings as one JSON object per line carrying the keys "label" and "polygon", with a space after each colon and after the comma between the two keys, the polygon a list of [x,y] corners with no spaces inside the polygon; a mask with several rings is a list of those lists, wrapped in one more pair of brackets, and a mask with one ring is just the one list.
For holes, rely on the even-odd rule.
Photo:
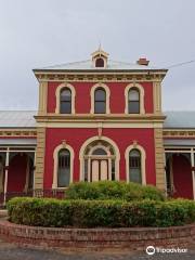
{"label": "red and cream two-storey building with verandahed side wings", "polygon": [[38,112],[0,112],[2,194],[122,180],[195,198],[195,112],[162,113],[167,69],[99,49],[34,74]]}

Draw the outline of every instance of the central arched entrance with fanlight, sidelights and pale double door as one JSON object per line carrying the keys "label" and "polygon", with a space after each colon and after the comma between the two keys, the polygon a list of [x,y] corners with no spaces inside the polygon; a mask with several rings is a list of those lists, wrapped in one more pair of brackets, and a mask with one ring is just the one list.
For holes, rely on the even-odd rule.
{"label": "central arched entrance with fanlight, sidelights and pale double door", "polygon": [[84,181],[116,180],[116,154],[114,147],[104,140],[87,145],[83,153]]}

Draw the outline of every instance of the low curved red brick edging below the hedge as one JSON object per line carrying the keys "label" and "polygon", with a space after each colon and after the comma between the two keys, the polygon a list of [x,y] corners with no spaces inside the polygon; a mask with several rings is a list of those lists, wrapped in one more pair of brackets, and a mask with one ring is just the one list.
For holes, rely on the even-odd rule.
{"label": "low curved red brick edging below the hedge", "polygon": [[17,245],[67,250],[145,250],[195,245],[195,224],[171,227],[60,229],[0,221],[0,237]]}

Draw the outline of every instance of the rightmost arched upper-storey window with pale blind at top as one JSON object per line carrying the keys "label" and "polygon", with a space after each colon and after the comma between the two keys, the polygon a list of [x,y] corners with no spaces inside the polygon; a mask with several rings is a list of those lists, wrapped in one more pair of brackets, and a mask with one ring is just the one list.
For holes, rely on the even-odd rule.
{"label": "rightmost arched upper-storey window with pale blind at top", "polygon": [[128,93],[129,114],[140,114],[140,92],[136,88],[131,88]]}

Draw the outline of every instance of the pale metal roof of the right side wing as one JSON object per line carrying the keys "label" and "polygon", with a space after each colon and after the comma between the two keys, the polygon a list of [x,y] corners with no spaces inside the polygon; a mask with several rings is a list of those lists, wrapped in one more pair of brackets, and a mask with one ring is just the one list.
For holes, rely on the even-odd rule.
{"label": "pale metal roof of the right side wing", "polygon": [[165,112],[164,128],[195,129],[195,110]]}

